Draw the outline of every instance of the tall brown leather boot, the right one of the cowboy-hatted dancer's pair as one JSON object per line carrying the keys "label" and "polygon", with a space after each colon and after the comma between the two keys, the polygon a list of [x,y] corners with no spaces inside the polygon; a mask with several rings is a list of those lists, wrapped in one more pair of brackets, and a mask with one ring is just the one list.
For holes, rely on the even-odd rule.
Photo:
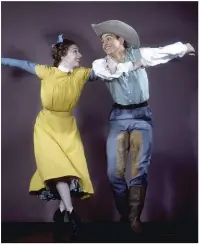
{"label": "tall brown leather boot, the right one of the cowboy-hatted dancer's pair", "polygon": [[147,186],[131,186],[129,189],[129,221],[131,228],[136,233],[142,233],[140,215],[145,201]]}

